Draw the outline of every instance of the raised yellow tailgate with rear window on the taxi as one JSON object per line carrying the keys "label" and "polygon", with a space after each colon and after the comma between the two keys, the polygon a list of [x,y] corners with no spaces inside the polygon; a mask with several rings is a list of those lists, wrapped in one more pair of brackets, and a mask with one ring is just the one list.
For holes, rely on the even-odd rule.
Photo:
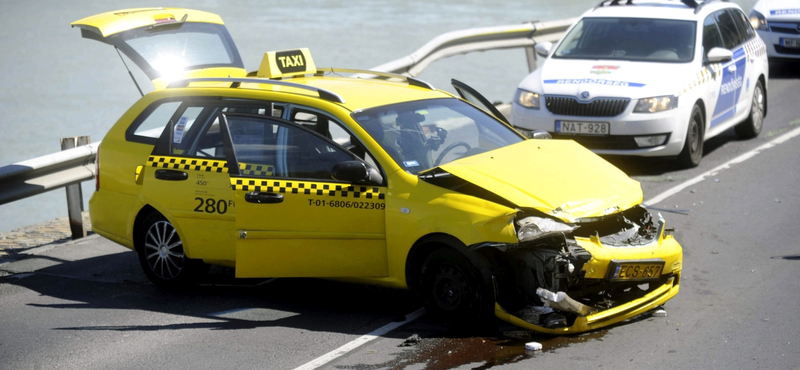
{"label": "raised yellow tailgate with rear window on the taxi", "polygon": [[181,8],[124,9],[75,21],[81,36],[113,45],[156,89],[189,77],[247,74],[220,16]]}

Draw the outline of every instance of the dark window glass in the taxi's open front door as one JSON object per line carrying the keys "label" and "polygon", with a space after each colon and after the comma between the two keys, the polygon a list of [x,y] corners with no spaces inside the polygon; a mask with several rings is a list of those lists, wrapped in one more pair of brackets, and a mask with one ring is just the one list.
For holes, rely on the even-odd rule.
{"label": "dark window glass in the taxi's open front door", "polygon": [[325,139],[289,123],[236,115],[227,120],[245,176],[330,181],[335,164],[353,160]]}

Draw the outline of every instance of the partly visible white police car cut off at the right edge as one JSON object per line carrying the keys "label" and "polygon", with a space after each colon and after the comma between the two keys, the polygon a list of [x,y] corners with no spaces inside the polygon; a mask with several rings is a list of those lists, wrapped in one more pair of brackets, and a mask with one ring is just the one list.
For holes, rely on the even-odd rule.
{"label": "partly visible white police car cut off at the right edge", "polygon": [[800,61],[800,0],[761,0],[750,12],[750,24],[770,59]]}

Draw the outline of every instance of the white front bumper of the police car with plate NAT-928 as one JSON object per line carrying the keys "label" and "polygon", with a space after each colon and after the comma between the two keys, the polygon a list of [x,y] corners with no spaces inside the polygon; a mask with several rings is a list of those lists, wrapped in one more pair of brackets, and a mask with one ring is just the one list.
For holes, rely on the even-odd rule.
{"label": "white front bumper of the police car with plate NAT-928", "polygon": [[[633,105],[616,117],[554,115],[547,109],[512,106],[511,123],[523,133],[543,130],[554,139],[571,139],[598,154],[675,156],[683,149],[686,124],[680,109],[659,113],[633,113]],[[556,121],[607,122],[608,135],[571,135],[555,132]]]}

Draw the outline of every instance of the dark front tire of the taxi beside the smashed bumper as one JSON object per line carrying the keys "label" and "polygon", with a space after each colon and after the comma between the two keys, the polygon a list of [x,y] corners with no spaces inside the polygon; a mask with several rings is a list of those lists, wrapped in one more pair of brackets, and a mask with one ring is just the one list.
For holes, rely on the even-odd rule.
{"label": "dark front tire of the taxi beside the smashed bumper", "polygon": [[490,280],[456,250],[441,248],[423,266],[422,295],[430,314],[455,324],[486,323],[494,308]]}

